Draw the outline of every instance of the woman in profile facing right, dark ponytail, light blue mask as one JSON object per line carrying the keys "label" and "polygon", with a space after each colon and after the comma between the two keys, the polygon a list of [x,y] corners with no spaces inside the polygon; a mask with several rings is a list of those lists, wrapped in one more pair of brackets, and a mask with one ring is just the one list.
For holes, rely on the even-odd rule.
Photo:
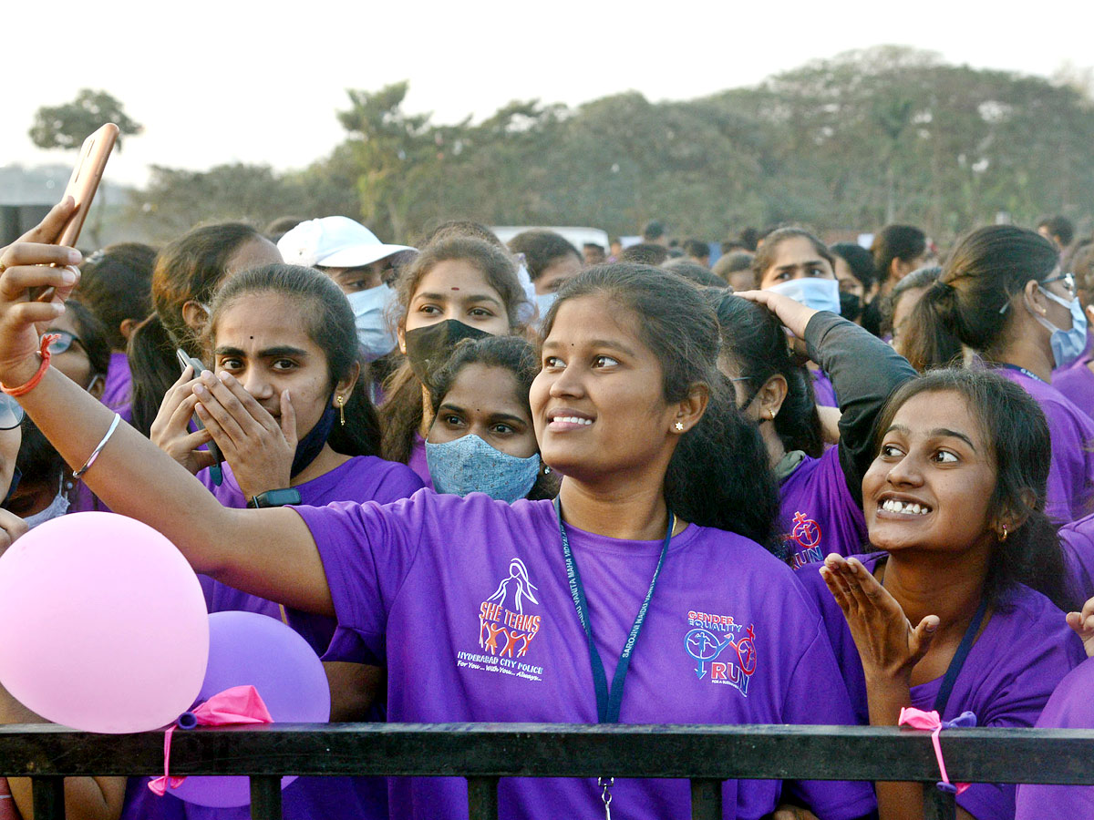
{"label": "woman in profile facing right, dark ponytail, light blue mask", "polygon": [[965,344],[1037,399],[1052,436],[1045,512],[1058,523],[1094,512],[1094,421],[1051,385],[1052,371],[1086,347],[1074,278],[1052,243],[1012,225],[968,234],[912,311],[907,337],[905,355],[920,372]]}

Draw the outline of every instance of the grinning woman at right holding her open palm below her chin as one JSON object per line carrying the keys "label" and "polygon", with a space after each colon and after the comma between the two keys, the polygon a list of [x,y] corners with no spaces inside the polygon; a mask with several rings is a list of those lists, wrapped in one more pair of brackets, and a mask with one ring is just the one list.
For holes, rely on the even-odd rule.
{"label": "grinning woman at right holding her open palm below her chin", "polygon": [[[996,374],[935,371],[894,394],[878,431],[862,495],[886,552],[801,570],[860,722],[893,725],[911,705],[1032,726],[1084,656],[1058,608],[1073,601],[1044,512],[1044,413]],[[922,817],[919,784],[878,783],[877,798],[881,820]],[[975,784],[957,803],[1013,817],[1014,787]]]}

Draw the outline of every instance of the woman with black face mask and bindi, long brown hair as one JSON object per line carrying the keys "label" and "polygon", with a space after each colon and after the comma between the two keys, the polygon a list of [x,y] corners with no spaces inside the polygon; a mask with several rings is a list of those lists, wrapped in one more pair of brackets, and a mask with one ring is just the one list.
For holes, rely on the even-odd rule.
{"label": "woman with black face mask and bindi, long brown hair", "polygon": [[381,454],[408,465],[432,487],[426,436],[433,421],[434,374],[463,339],[523,332],[517,316],[527,303],[512,258],[466,236],[423,248],[395,290],[392,324],[405,359],[384,383]]}

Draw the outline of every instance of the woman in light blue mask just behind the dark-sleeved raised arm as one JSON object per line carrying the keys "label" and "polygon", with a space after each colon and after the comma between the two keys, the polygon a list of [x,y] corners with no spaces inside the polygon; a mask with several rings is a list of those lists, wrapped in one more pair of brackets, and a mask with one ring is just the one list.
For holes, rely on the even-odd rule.
{"label": "woman in light blue mask just behind the dark-sleeved raised arm", "polygon": [[[802,227],[780,227],[764,239],[753,258],[756,288],[790,296],[814,311],[839,314],[836,260],[827,246]],[[813,390],[821,407],[839,407],[828,375],[810,362]]]}

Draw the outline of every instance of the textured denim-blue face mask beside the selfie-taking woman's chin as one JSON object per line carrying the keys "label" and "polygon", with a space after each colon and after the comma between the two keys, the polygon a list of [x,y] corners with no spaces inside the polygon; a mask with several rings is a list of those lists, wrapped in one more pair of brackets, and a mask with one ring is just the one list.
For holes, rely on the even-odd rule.
{"label": "textured denim-blue face mask beside the selfie-taking woman's chin", "polygon": [[426,462],[439,493],[486,493],[512,504],[523,499],[539,476],[539,455],[517,458],[468,433],[452,442],[426,442]]}

